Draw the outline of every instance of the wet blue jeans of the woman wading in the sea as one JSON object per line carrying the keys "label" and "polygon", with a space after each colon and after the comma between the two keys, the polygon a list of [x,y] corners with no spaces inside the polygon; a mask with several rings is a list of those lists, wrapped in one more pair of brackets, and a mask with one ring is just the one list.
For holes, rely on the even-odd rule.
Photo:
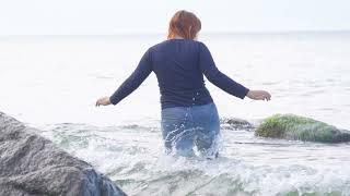
{"label": "wet blue jeans of the woman wading in the sea", "polygon": [[167,154],[192,156],[194,147],[206,157],[218,156],[220,121],[213,102],[162,110],[162,135]]}

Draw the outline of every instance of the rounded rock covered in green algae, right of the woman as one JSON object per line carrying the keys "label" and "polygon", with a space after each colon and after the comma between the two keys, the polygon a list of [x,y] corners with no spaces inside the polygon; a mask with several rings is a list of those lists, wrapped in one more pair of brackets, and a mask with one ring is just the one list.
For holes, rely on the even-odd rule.
{"label": "rounded rock covered in green algae, right of the woman", "polygon": [[256,136],[320,143],[350,142],[350,132],[314,119],[294,114],[275,114],[257,127]]}

